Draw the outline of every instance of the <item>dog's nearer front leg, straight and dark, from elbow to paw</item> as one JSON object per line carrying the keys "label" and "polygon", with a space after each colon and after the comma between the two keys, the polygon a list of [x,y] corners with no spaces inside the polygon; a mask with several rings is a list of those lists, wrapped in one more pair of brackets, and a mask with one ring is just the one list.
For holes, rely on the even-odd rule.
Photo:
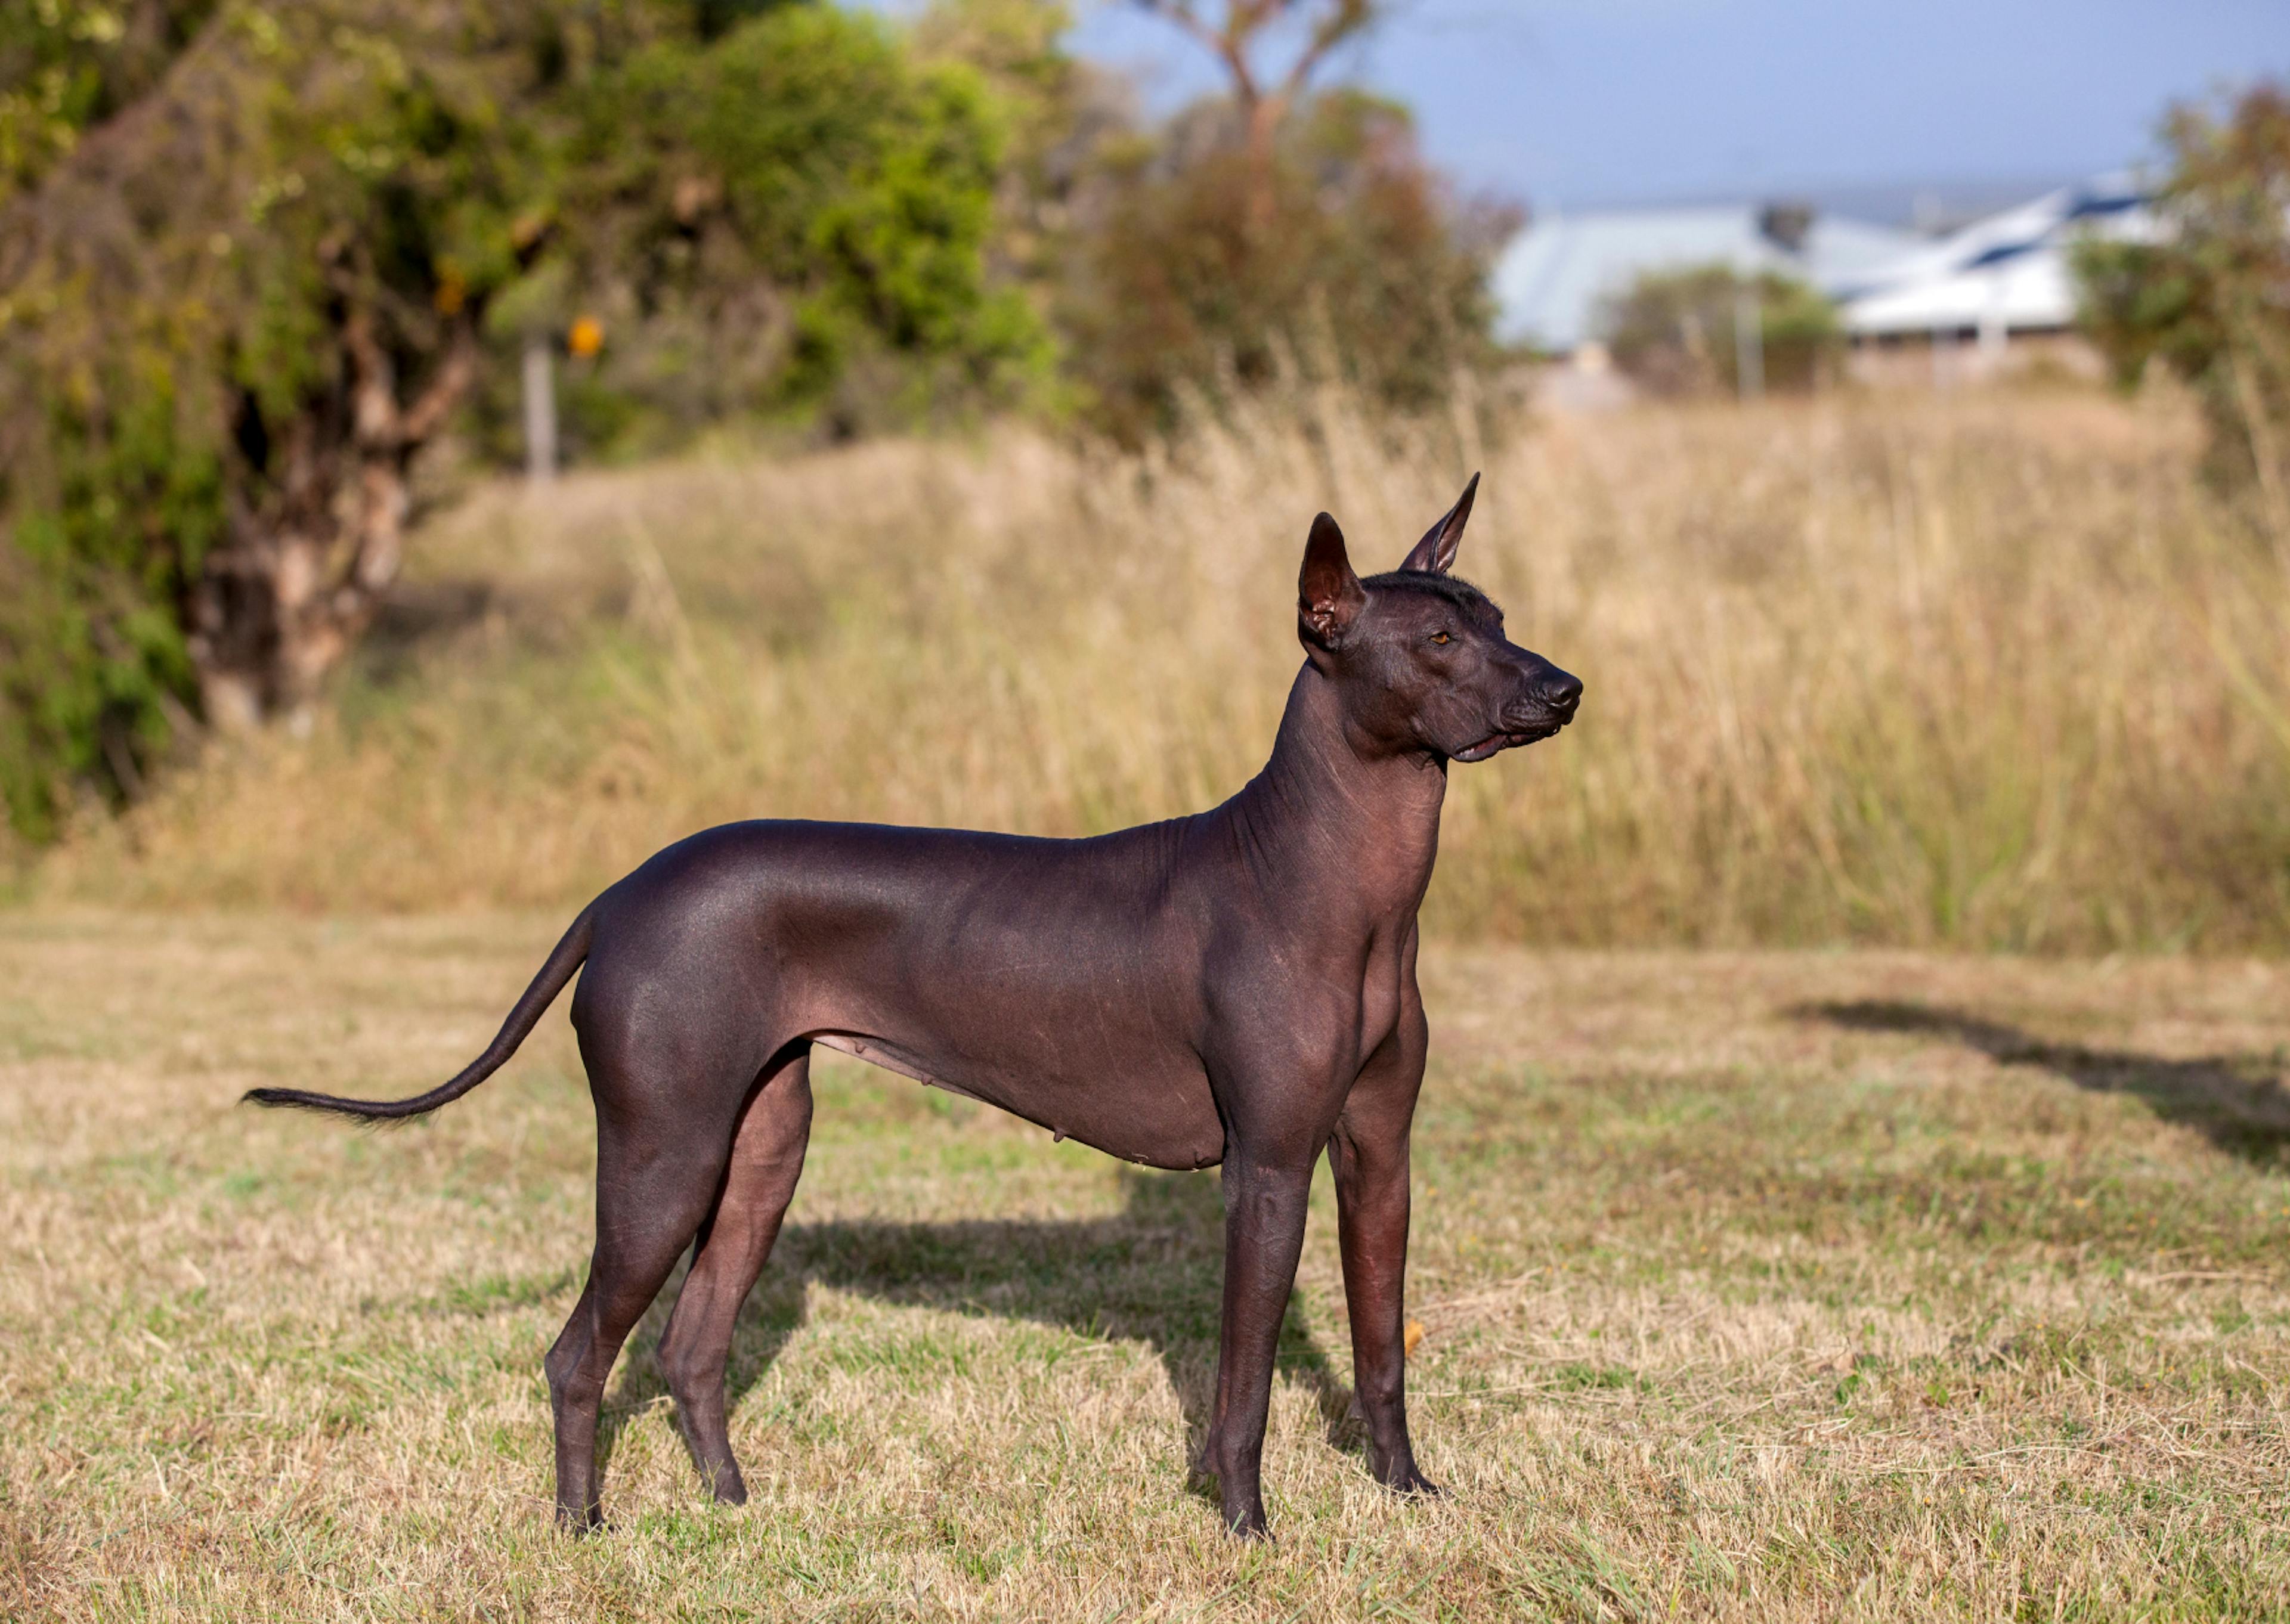
{"label": "dog's nearer front leg, straight and dark, from elbow to paw", "polygon": [[1264,1422],[1280,1319],[1296,1287],[1312,1154],[1225,1154],[1225,1322],[1216,1347],[1216,1411],[1202,1466],[1216,1473],[1225,1526],[1264,1535]]}

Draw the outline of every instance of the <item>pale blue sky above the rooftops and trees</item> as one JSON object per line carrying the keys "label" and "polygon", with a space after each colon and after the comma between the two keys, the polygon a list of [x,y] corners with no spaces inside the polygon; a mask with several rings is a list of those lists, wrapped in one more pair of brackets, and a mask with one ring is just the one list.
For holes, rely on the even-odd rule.
{"label": "pale blue sky above the rooftops and trees", "polygon": [[[1154,105],[1216,82],[1127,0],[1076,9]],[[2150,153],[2166,101],[2285,71],[2290,0],[1413,0],[1337,62],[1537,208],[2072,179]]]}

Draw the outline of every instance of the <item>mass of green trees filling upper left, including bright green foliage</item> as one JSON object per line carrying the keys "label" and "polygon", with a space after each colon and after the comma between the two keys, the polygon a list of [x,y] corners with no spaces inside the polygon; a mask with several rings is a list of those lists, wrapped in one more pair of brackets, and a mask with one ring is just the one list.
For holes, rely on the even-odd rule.
{"label": "mass of green trees filling upper left, including bright green foliage", "polygon": [[37,135],[0,218],[0,797],[34,838],[195,712],[309,701],[396,575],[412,458],[534,332],[602,316],[575,417],[605,442],[1047,364],[985,275],[987,76],[870,16],[119,11],[169,57],[55,5],[0,30],[0,115]]}

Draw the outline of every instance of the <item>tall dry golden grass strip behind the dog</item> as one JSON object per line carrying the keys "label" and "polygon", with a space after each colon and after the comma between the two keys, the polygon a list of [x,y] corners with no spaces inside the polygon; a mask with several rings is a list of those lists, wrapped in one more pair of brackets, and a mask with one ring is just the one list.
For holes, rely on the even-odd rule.
{"label": "tall dry golden grass strip behind the dog", "polygon": [[575,905],[753,815],[1083,834],[1262,763],[1310,515],[1582,673],[1461,767],[1438,928],[2279,948],[2290,586],[2192,417],[2082,394],[1548,421],[1340,399],[1124,458],[1005,431],[492,488],[307,738],[213,751],[37,880],[135,905]]}

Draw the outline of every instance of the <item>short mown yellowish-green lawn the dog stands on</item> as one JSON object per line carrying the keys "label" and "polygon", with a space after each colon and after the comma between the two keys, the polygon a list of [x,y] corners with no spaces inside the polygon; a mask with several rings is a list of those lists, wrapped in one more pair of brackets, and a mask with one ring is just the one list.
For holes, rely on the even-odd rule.
{"label": "short mown yellowish-green lawn the dog stands on", "polygon": [[744,1509],[648,1361],[550,1526],[589,1246],[561,1015],[414,1093],[559,919],[0,916],[0,1615],[2290,1613],[2290,969],[1427,951],[1411,1365],[1365,1475],[1321,1182],[1278,1539],[1186,1487],[1214,1175],[824,1061],[733,1358]]}

